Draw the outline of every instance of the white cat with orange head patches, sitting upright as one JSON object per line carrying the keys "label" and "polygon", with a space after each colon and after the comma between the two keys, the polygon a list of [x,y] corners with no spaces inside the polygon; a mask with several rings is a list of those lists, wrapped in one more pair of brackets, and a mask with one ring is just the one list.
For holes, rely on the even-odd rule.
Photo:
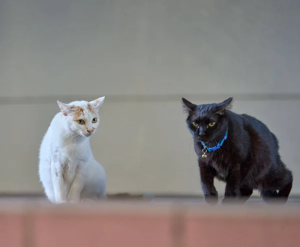
{"label": "white cat with orange head patches, sitting upright", "polygon": [[52,119],[39,150],[39,179],[50,202],[105,197],[105,170],[89,145],[103,101],[104,97],[69,104],[57,101],[61,111]]}

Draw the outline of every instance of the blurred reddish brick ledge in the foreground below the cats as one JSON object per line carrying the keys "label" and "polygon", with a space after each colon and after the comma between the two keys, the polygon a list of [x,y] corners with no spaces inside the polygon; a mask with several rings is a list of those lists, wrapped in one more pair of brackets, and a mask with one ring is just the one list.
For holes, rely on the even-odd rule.
{"label": "blurred reddish brick ledge in the foreground below the cats", "polygon": [[0,247],[300,247],[300,200],[211,207],[112,198],[73,205],[0,199]]}

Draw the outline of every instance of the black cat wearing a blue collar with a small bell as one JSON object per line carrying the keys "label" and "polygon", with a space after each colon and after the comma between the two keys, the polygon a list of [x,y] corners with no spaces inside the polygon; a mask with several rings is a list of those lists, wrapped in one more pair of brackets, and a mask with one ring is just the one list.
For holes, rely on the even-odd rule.
{"label": "black cat wearing a blue collar with a small bell", "polygon": [[231,101],[195,105],[182,98],[206,202],[218,201],[213,185],[216,177],[226,183],[222,203],[230,199],[244,203],[253,189],[266,202],[285,203],[292,173],[280,159],[277,138],[256,118],[230,111]]}

